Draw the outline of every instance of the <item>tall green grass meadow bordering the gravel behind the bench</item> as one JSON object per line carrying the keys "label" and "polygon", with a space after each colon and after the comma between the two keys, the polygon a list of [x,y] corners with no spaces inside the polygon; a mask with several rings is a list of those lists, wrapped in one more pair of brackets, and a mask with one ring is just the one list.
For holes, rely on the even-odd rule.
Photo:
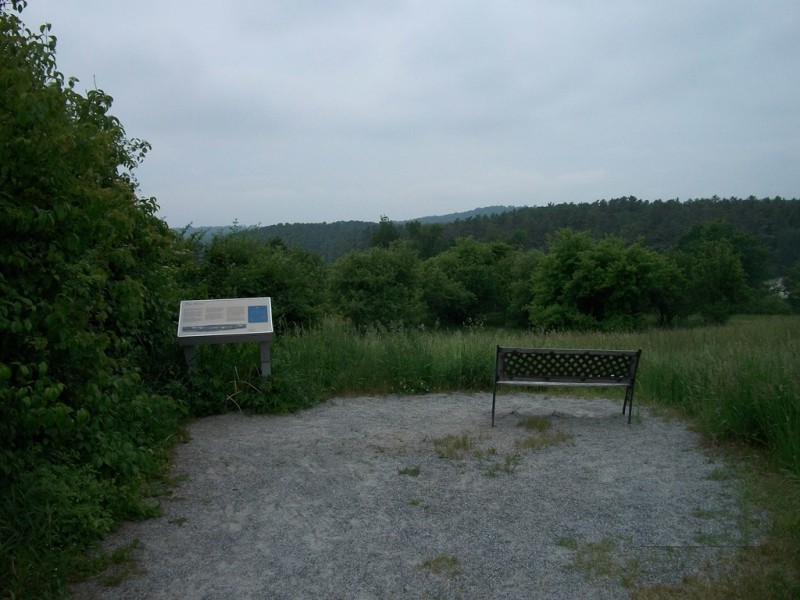
{"label": "tall green grass meadow bordering the gravel behind the bench", "polygon": [[[295,410],[337,395],[488,391],[498,344],[641,348],[637,403],[678,411],[709,440],[762,448],[800,478],[797,317],[740,317],[725,326],[633,333],[483,327],[359,332],[328,319],[276,339],[271,380],[258,376],[256,349],[216,347],[201,355],[207,364],[195,381],[198,389],[211,381],[232,385],[235,393],[218,401],[258,411]],[[239,392],[247,393],[236,396]]]}

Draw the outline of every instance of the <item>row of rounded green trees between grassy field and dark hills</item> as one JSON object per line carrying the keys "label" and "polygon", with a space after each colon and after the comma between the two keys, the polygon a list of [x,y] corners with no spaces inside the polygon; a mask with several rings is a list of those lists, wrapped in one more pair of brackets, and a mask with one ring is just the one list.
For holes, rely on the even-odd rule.
{"label": "row of rounded green trees between grassy field and dark hills", "polygon": [[401,235],[388,219],[370,243],[328,264],[243,230],[197,245],[196,284],[218,297],[270,295],[283,326],[337,314],[359,328],[619,330],[797,305],[796,277],[788,290],[770,285],[768,249],[725,221],[696,224],[663,250],[562,228],[542,250],[463,237],[425,258],[424,237]]}

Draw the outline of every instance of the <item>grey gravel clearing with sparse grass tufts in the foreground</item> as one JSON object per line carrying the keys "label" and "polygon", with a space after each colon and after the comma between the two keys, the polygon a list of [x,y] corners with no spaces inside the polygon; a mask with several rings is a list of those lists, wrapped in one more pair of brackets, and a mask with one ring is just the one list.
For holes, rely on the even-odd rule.
{"label": "grey gravel clearing with sparse grass tufts in the foreground", "polygon": [[[622,400],[337,398],[201,419],[163,516],[107,599],[628,598],[753,544],[735,482],[681,422]],[[520,426],[539,416],[539,432]],[[561,433],[559,433],[561,432]],[[449,437],[448,437],[449,436]],[[531,448],[529,438],[550,440]],[[458,450],[457,442],[469,448]],[[453,458],[443,458],[448,451]]]}

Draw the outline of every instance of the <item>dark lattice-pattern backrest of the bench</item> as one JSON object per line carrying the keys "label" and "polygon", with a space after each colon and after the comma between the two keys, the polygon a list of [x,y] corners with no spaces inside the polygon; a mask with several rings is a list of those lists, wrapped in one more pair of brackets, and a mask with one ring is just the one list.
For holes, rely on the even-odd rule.
{"label": "dark lattice-pattern backrest of the bench", "polygon": [[630,354],[524,352],[503,354],[502,379],[626,380],[632,377]]}

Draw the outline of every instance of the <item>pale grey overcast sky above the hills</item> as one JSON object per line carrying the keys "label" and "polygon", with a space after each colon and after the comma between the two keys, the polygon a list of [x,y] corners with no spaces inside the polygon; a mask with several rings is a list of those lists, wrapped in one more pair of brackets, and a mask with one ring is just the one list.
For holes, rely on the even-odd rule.
{"label": "pale grey overcast sky above the hills", "polygon": [[29,0],[173,227],[800,196],[797,0]]}

